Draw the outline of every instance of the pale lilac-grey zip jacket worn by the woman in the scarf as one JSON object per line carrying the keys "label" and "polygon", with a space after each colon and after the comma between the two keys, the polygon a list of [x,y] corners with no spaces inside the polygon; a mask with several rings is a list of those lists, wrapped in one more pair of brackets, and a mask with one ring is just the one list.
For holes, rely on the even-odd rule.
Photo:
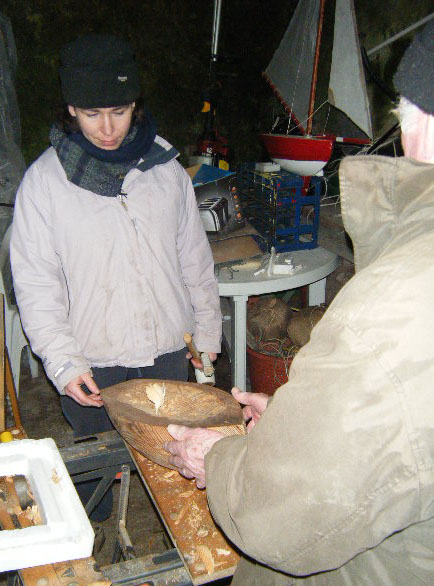
{"label": "pale lilac-grey zip jacket worn by the woman in the scarf", "polygon": [[214,262],[187,173],[174,159],[134,168],[122,190],[123,202],[73,185],[49,148],[17,194],[15,292],[59,392],[92,366],[152,365],[182,349],[185,332],[220,351]]}

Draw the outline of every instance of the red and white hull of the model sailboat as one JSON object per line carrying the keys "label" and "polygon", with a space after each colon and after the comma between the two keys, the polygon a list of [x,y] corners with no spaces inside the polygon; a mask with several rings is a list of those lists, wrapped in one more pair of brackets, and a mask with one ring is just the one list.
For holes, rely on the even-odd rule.
{"label": "red and white hull of the model sailboat", "polygon": [[296,175],[316,175],[330,160],[334,136],[261,134],[272,161]]}

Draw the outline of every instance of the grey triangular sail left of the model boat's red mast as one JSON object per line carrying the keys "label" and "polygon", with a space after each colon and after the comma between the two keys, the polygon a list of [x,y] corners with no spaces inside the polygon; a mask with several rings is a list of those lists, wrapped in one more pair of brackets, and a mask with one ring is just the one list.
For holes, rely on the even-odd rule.
{"label": "grey triangular sail left of the model boat's red mast", "polygon": [[320,0],[299,0],[264,77],[285,109],[305,126],[309,111]]}

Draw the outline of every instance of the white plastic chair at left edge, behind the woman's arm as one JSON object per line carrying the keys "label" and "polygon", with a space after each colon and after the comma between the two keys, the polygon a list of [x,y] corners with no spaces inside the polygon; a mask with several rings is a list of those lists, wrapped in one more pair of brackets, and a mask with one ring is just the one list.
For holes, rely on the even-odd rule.
{"label": "white plastic chair at left edge, behind the woman's arm", "polygon": [[32,378],[38,376],[38,361],[33,355],[29,341],[23,332],[20,314],[18,313],[18,307],[15,302],[9,258],[11,228],[12,226],[9,226],[6,230],[0,246],[0,293],[4,295],[5,342],[9,353],[15,390],[18,396],[20,389],[21,353],[23,349],[26,348],[27,350]]}

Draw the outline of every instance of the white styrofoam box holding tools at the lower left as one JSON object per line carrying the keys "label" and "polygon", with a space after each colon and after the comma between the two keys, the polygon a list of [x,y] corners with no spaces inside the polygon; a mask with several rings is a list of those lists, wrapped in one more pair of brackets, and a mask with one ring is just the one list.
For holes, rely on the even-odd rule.
{"label": "white styrofoam box holding tools at the lower left", "polygon": [[51,438],[0,445],[0,476],[23,474],[43,525],[0,531],[0,572],[88,557],[94,532]]}

